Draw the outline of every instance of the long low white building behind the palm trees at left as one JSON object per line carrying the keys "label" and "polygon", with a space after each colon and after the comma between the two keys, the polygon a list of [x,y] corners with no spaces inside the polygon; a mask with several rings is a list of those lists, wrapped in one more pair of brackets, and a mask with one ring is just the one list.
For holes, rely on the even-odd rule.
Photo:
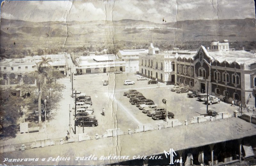
{"label": "long low white building behind the palm trees at left", "polygon": [[26,56],[20,59],[3,59],[0,61],[0,71],[2,78],[7,79],[23,77],[28,73],[37,70],[36,64],[41,62],[42,57],[50,58],[52,61],[48,62],[49,65],[59,70],[62,74],[66,74],[66,53],[55,55],[42,55],[42,56]]}

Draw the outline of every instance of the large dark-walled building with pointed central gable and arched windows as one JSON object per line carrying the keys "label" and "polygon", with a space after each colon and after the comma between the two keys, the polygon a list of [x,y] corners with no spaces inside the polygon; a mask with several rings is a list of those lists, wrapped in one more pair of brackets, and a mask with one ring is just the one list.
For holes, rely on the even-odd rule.
{"label": "large dark-walled building with pointed central gable and arched windows", "polygon": [[[216,42],[213,43],[213,46]],[[220,42],[218,42],[220,46]],[[207,91],[220,99],[236,99],[255,107],[256,58],[246,51],[228,51],[226,42],[220,49],[200,46],[196,55],[179,55],[176,59],[175,82],[191,90]],[[224,47],[225,46],[225,47]],[[221,49],[222,48],[222,49]],[[218,49],[218,51],[217,51]]]}

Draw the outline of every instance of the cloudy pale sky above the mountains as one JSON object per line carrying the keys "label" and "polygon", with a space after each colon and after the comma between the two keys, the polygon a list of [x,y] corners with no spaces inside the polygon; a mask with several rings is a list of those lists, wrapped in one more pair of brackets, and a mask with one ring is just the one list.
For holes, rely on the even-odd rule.
{"label": "cloudy pale sky above the mountains", "polygon": [[44,21],[181,20],[255,18],[254,0],[5,1],[1,18]]}

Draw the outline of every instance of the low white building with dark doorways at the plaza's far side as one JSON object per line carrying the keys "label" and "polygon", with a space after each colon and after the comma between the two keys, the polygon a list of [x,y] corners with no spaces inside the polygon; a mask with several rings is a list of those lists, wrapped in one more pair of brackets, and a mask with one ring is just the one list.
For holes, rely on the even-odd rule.
{"label": "low white building with dark doorways at the plaza's far side", "polygon": [[76,58],[76,73],[95,74],[115,71],[125,72],[125,61],[116,59],[115,55],[81,56]]}

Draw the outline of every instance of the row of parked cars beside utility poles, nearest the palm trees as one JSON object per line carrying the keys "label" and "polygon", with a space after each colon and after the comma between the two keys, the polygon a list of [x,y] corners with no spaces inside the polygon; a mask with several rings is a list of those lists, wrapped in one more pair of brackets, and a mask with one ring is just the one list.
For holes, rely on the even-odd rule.
{"label": "row of parked cars beside utility poles, nearest the palm trees", "polygon": [[76,108],[76,114],[74,112],[75,125],[78,127],[81,126],[97,126],[98,120],[96,119],[94,109],[92,106],[91,96],[86,96],[85,93],[76,92],[73,94],[76,97],[75,105],[72,107]]}

